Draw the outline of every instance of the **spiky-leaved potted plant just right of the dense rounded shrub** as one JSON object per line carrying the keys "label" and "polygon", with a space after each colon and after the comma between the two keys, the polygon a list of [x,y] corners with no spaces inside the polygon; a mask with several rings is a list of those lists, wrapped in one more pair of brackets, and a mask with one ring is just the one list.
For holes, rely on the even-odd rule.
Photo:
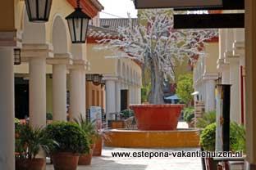
{"label": "spiky-leaved potted plant just right of the dense rounded shrub", "polygon": [[81,129],[85,132],[86,136],[89,139],[90,150],[89,154],[81,154],[79,157],[79,165],[90,165],[93,157],[93,151],[95,147],[95,141],[100,137],[96,128],[96,121],[89,121],[80,114],[78,119],[74,119]]}

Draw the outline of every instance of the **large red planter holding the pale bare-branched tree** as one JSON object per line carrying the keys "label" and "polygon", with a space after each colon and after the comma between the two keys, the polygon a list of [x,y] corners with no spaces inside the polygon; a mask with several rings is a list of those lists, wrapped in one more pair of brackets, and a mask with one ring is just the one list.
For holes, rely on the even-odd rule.
{"label": "large red planter holding the pale bare-branched tree", "polygon": [[130,105],[139,130],[176,130],[185,105]]}

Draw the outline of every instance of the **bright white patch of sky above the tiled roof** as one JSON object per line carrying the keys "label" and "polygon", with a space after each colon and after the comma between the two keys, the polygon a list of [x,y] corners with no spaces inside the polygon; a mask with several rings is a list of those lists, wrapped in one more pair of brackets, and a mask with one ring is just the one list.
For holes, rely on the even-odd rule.
{"label": "bright white patch of sky above the tiled roof", "polygon": [[[127,18],[130,13],[132,18],[137,17],[137,10],[131,0],[98,0],[104,7],[104,11],[100,13],[101,18]],[[108,14],[106,14],[108,13]],[[112,14],[112,15],[109,15]]]}

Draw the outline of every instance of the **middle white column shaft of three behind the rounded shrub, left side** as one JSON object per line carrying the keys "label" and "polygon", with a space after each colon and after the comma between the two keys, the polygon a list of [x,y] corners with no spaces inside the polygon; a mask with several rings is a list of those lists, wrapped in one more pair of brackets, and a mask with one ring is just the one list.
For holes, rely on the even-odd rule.
{"label": "middle white column shaft of three behind the rounded shrub, left side", "polygon": [[53,120],[66,121],[66,65],[53,65]]}

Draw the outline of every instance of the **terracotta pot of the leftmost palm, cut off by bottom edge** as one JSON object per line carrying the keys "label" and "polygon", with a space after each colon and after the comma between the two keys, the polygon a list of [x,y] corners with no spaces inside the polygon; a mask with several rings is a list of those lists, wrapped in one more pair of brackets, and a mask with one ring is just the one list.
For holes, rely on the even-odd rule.
{"label": "terracotta pot of the leftmost palm, cut off by bottom edge", "polygon": [[16,170],[43,170],[45,159],[17,159]]}

